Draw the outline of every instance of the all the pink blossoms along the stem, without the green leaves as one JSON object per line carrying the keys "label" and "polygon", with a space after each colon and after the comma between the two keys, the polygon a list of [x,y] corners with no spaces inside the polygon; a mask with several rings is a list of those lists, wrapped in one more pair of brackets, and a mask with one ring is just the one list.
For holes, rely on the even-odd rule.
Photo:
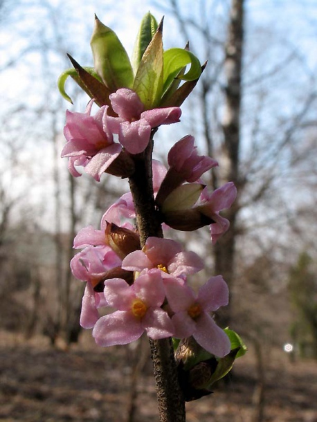
{"label": "all the pink blossoms along the stem, without the green leaves", "polygon": [[[107,106],[91,116],[92,103],[86,113],[66,114],[68,142],[62,156],[69,158],[74,176],[80,176],[75,166],[82,165],[99,181],[122,154],[132,161],[141,154],[153,128],[177,122],[181,116],[179,107],[144,111],[130,89],[119,89],[110,100],[118,116],[109,116]],[[218,164],[199,156],[190,135],[170,149],[167,163],[168,169],[152,161],[154,199],[163,228],[190,231],[209,226],[215,243],[228,230],[228,219],[219,213],[235,200],[235,185],[229,182],[214,192],[207,190],[201,176]],[[128,192],[105,212],[100,230],[83,228],[74,239],[74,247],[82,250],[72,259],[71,269],[86,282],[82,327],[92,328],[101,346],[127,344],[145,331],[154,340],[193,336],[203,349],[225,356],[230,340],[212,313],[228,304],[226,282],[217,275],[194,291],[188,277],[203,269],[201,258],[172,239],[148,237],[141,248],[135,217]]]}

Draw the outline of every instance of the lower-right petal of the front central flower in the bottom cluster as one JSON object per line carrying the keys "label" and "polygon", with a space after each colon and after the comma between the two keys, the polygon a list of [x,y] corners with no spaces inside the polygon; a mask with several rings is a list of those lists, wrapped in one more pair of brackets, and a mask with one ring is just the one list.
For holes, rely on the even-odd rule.
{"label": "lower-right petal of the front central flower in the bottom cluster", "polygon": [[147,331],[147,336],[153,340],[172,337],[174,335],[174,326],[172,321],[163,309],[147,309],[147,313],[142,319],[141,324]]}

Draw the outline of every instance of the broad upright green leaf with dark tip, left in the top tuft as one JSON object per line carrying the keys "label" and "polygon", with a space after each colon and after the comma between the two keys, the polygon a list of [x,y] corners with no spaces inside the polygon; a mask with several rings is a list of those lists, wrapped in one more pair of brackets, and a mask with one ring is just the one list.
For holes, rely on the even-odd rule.
{"label": "broad upright green leaf with dark tip, left in the top tuft", "polygon": [[98,17],[90,45],[94,68],[110,91],[132,88],[134,73],[127,52],[116,33],[102,24]]}

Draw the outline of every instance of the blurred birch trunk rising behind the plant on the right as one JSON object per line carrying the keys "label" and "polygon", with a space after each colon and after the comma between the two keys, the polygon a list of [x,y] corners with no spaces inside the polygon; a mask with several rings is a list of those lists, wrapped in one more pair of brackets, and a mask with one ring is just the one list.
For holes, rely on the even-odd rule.
{"label": "blurred birch trunk rising behind the plant on the right", "polygon": [[[244,42],[244,0],[232,0],[228,35],[226,41],[226,102],[224,109],[223,157],[224,174],[222,182],[233,181],[239,188],[239,145],[240,108],[242,98],[242,49]],[[230,230],[219,239],[215,246],[215,272],[221,274],[230,286],[233,284],[235,261],[235,228],[238,212],[237,200],[226,212]],[[221,324],[230,322],[230,307],[221,314]]]}

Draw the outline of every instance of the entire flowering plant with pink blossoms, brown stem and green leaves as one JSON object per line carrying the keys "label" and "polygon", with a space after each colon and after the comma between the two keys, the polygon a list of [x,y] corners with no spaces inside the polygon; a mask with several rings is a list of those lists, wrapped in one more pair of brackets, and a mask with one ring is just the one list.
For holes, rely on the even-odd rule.
{"label": "entire flowering plant with pink blossoms, brown stem and green leaves", "polygon": [[[93,329],[102,347],[126,345],[143,333],[150,338],[160,421],[185,421],[185,401],[210,393],[246,348],[232,330],[212,318],[228,304],[221,275],[199,291],[189,277],[203,260],[163,230],[194,231],[209,226],[213,244],[229,228],[219,212],[235,201],[231,182],[210,192],[203,173],[217,161],[200,156],[194,138],[184,136],[167,155],[168,168],[152,160],[154,134],[181,118],[181,104],[204,66],[188,48],[163,50],[163,21],[149,13],[141,22],[130,60],[116,33],[96,17],[91,37],[94,67],[73,68],[72,77],[91,101],[84,113],[66,112],[62,157],[100,181],[105,172],[128,178],[130,192],[105,212],[100,230],[82,228],[71,261],[73,275],[86,282],[80,324]],[[93,104],[98,111],[91,115]],[[100,316],[100,308],[102,315]]]}

